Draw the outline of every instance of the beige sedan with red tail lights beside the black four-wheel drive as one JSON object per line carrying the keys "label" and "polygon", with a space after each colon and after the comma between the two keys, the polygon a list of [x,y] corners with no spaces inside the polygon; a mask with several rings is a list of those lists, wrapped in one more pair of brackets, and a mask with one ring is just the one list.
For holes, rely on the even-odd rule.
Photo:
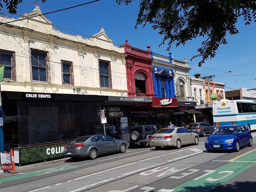
{"label": "beige sedan with red tail lights beside the black four-wheel drive", "polygon": [[198,135],[196,133],[190,132],[184,127],[160,129],[158,132],[151,136],[151,144],[156,149],[161,149],[161,146],[175,146],[179,149],[181,148],[181,145],[198,145],[198,143]]}

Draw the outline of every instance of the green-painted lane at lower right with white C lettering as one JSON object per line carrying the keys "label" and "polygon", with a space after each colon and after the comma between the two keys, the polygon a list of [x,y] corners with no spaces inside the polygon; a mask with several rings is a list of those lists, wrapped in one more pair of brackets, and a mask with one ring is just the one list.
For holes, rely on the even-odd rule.
{"label": "green-painted lane at lower right with white C lettering", "polygon": [[[256,154],[256,151],[255,151]],[[254,153],[247,153],[246,155],[238,158],[238,161],[247,159],[247,161],[255,160]],[[246,163],[246,164],[234,164],[236,161],[229,162],[221,167],[218,167],[215,170],[206,170],[206,174],[190,180],[186,183],[183,183],[176,188],[173,188],[175,191],[189,191],[189,192],[196,192],[196,191],[203,191],[209,192],[213,189],[217,188],[219,185],[227,182],[228,180],[232,179],[236,175],[244,172],[245,170],[249,169],[250,167],[254,166],[254,163]]]}

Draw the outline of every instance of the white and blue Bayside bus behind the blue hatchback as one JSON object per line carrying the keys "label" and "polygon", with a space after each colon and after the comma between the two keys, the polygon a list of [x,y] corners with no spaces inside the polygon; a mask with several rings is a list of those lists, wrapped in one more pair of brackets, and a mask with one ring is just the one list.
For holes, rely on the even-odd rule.
{"label": "white and blue Bayside bus behind the blue hatchback", "polygon": [[223,125],[245,125],[256,129],[256,102],[250,100],[221,100],[213,103],[214,128]]}

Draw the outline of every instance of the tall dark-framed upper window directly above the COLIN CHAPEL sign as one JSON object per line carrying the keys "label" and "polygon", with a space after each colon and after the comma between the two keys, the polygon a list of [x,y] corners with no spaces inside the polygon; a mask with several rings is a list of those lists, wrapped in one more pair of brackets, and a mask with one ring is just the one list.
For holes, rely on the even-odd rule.
{"label": "tall dark-framed upper window directly above the COLIN CHAPEL sign", "polygon": [[47,81],[46,75],[46,54],[31,51],[32,80]]}

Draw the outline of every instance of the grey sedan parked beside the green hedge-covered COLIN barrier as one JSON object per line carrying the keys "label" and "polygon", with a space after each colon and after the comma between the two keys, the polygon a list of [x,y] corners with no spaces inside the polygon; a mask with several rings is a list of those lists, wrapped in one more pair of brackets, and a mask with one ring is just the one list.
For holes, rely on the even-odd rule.
{"label": "grey sedan parked beside the green hedge-covered COLIN barrier", "polygon": [[64,146],[64,156],[76,159],[89,157],[96,159],[100,154],[126,151],[126,143],[123,140],[113,139],[107,135],[87,135],[68,143]]}

